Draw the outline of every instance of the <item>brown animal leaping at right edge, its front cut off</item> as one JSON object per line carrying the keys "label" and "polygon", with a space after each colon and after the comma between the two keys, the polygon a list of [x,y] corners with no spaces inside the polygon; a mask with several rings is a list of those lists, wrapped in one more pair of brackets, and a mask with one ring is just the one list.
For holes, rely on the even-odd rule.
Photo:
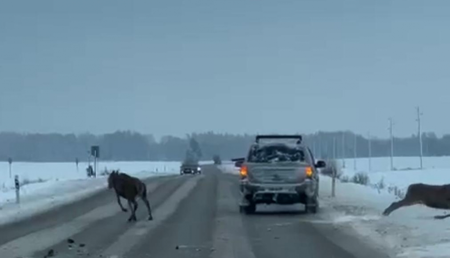
{"label": "brown animal leaping at right edge, its front cut off", "polygon": [[[408,186],[405,198],[398,202],[393,202],[384,210],[383,215],[388,216],[398,208],[414,204],[423,204],[437,209],[450,209],[450,184],[439,186],[412,184]],[[450,214],[434,216],[436,219],[444,219],[446,217],[450,217]]]}

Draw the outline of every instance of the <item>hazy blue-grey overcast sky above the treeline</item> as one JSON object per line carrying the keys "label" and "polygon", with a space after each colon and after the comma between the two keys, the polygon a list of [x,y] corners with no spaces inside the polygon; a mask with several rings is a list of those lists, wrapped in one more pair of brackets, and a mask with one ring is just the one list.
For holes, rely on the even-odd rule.
{"label": "hazy blue-grey overcast sky above the treeline", "polygon": [[449,1],[0,2],[0,131],[450,133]]}

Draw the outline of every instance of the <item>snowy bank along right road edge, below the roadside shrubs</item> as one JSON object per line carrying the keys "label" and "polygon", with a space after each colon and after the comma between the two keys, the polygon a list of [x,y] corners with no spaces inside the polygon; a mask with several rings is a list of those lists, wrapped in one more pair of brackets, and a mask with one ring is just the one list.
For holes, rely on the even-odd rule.
{"label": "snowy bank along right road edge, below the roadside shrubs", "polygon": [[448,257],[450,226],[435,220],[436,210],[420,205],[400,208],[390,216],[381,214],[396,196],[387,191],[337,182],[336,197],[331,196],[331,178],[320,179],[321,216],[342,228],[351,227],[367,240],[374,241],[398,257]]}

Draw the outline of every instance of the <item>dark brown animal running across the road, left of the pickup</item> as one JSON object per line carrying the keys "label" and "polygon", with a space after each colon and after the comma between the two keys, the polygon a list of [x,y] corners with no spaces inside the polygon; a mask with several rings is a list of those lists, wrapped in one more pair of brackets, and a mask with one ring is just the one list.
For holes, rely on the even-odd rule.
{"label": "dark brown animal running across the road, left of the pickup", "polygon": [[120,198],[123,197],[128,201],[128,207],[131,210],[131,216],[128,221],[136,221],[136,210],[138,208],[138,203],[136,202],[136,197],[140,197],[147,206],[148,210],[148,220],[153,220],[152,210],[147,199],[147,187],[144,182],[140,181],[139,178],[131,177],[125,173],[119,173],[119,171],[112,171],[108,177],[108,188],[116,191],[117,203],[119,204],[122,211],[127,212],[126,208],[123,208]]}

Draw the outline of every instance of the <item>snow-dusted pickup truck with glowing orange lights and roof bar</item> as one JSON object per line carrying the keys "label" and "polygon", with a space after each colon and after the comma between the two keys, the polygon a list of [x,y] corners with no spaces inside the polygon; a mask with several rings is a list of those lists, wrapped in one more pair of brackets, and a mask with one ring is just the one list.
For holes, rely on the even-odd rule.
{"label": "snow-dusted pickup truck with glowing orange lights and roof bar", "polygon": [[305,204],[306,212],[317,212],[317,169],[325,167],[325,163],[315,163],[311,150],[302,144],[302,136],[257,136],[247,158],[235,160],[240,167],[241,212],[254,213],[257,204],[297,203]]}

